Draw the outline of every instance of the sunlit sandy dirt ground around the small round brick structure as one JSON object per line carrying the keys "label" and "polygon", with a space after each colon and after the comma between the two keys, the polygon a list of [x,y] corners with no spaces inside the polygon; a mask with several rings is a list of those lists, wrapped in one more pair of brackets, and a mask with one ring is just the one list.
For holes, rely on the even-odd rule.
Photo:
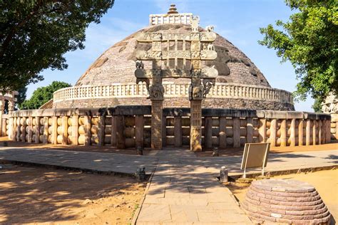
{"label": "sunlit sandy dirt ground around the small round brick structure", "polygon": [[[297,179],[302,182],[312,184],[322,197],[327,208],[334,216],[335,221],[338,221],[338,169],[322,170],[318,172],[287,174],[272,177],[275,179]],[[227,184],[232,194],[243,202],[247,188],[250,184],[231,182]]]}

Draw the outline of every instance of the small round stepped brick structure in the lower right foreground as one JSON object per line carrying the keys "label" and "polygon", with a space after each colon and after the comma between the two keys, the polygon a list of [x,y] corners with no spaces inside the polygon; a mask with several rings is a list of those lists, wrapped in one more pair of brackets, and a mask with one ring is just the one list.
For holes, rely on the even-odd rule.
{"label": "small round stepped brick structure in the lower right foreground", "polygon": [[316,189],[292,179],[252,182],[242,206],[260,224],[329,224],[331,219]]}

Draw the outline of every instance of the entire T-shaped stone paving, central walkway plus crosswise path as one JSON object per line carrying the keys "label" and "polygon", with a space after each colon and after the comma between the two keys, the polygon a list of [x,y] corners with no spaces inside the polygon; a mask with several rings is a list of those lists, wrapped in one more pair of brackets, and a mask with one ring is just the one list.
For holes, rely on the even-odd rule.
{"label": "entire T-shaped stone paving, central walkway plus crosswise path", "polygon": [[[231,192],[215,176],[226,166],[240,174],[241,156],[195,157],[189,150],[162,150],[149,156],[0,147],[0,159],[133,174],[155,169],[137,224],[250,224]],[[157,166],[156,166],[157,165]],[[270,154],[267,172],[338,165],[338,151]],[[257,172],[257,171],[252,171]]]}

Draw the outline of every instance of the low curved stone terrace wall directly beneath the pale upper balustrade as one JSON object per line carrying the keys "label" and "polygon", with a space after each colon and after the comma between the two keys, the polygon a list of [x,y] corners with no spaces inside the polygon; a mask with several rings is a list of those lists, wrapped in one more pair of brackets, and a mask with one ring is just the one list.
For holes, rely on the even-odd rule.
{"label": "low curved stone terrace wall directly beneath the pale upper balustrade", "polygon": [[[53,108],[102,108],[116,107],[118,105],[151,105],[145,98],[97,98],[86,100],[63,100],[53,103]],[[163,108],[189,108],[190,102],[185,98],[165,98]],[[278,103],[268,100],[248,100],[241,98],[206,98],[203,100],[203,108],[234,108],[256,110],[285,110],[294,111],[294,105],[290,103]]]}

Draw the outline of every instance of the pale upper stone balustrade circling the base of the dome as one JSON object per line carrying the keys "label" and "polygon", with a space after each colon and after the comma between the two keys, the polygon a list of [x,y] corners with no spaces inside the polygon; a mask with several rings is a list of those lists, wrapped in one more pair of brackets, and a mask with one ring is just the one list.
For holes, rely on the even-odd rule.
{"label": "pale upper stone balustrade circling the base of the dome", "polygon": [[[188,99],[188,84],[163,83],[163,86],[165,98],[182,97]],[[53,95],[53,102],[91,98],[146,98],[147,96],[148,91],[145,84],[83,85],[57,90]],[[285,90],[231,83],[216,83],[207,98],[245,98],[293,104],[292,94]]]}

